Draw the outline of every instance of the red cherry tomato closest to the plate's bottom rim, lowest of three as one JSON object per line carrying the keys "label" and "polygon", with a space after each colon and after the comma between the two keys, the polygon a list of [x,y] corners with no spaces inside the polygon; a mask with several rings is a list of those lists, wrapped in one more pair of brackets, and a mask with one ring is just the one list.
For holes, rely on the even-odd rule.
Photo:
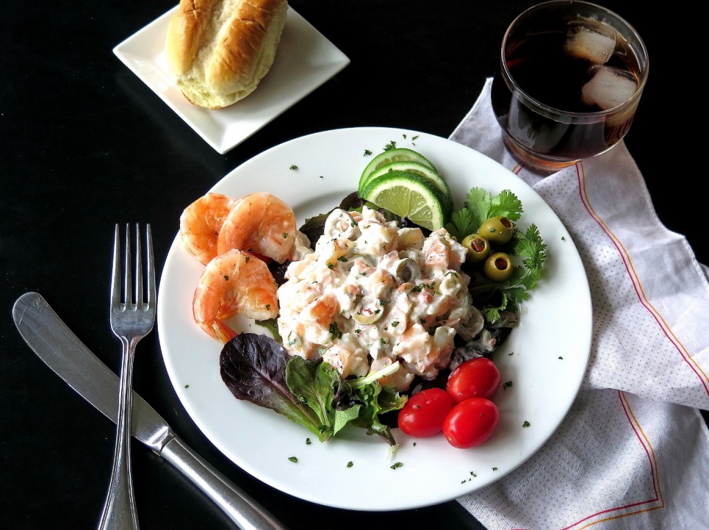
{"label": "red cherry tomato closest to the plate's bottom rim, lowest of three", "polygon": [[452,446],[468,449],[489,439],[499,422],[497,405],[485,397],[471,397],[455,405],[445,417],[443,435]]}

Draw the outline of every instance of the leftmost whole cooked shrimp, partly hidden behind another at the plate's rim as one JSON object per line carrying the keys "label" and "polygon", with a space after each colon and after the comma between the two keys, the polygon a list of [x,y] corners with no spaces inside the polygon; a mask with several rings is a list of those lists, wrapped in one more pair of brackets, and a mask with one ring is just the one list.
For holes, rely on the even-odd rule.
{"label": "leftmost whole cooked shrimp, partly hidden behind another at the plate's rim", "polygon": [[179,235],[187,252],[206,265],[217,255],[217,238],[233,199],[207,193],[185,208],[179,218]]}

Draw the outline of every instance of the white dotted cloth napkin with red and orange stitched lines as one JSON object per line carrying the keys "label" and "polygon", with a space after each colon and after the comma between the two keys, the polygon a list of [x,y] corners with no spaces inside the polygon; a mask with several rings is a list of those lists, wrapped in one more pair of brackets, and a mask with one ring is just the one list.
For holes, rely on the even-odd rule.
{"label": "white dotted cloth napkin with red and orange stitched lines", "polygon": [[708,529],[709,269],[661,225],[623,142],[551,176],[520,168],[490,86],[450,138],[518,174],[564,222],[591,286],[593,344],[547,444],[459,502],[490,530]]}

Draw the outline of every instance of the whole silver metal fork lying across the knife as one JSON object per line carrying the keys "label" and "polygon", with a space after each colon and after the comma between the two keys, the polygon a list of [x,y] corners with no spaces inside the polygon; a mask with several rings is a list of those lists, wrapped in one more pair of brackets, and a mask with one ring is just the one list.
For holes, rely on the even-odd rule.
{"label": "whole silver metal fork lying across the knife", "polygon": [[[99,530],[138,529],[135,509],[133,475],[130,470],[130,426],[133,409],[133,357],[135,345],[155,325],[155,259],[152,255],[152,234],[146,227],[147,293],[143,300],[143,254],[140,246],[140,226],[135,225],[135,300],[130,275],[130,226],[125,227],[125,281],[121,286],[121,235],[119,226],[113,238],[113,274],[111,276],[111,329],[121,339],[121,383],[118,388],[118,430],[113,454],[111,483],[101,513]],[[123,288],[122,288],[123,287]],[[123,302],[122,293],[125,293]]]}

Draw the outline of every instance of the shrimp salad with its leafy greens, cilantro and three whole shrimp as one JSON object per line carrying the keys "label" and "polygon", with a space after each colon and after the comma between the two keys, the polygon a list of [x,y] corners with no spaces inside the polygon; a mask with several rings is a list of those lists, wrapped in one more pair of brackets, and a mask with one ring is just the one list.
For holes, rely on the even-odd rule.
{"label": "shrimp salad with its leafy greens, cilantro and three whole shrimp", "polygon": [[[222,345],[220,375],[237,399],[320,441],[350,424],[394,446],[390,412],[464,360],[492,354],[517,325],[545,245],[534,225],[515,230],[506,248],[522,265],[491,281],[466,261],[467,227],[494,213],[518,219],[512,193],[474,188],[453,222],[432,232],[351,197],[300,229],[270,193],[207,193],[189,205],[180,239],[205,266],[192,312]],[[237,314],[274,338],[236,332]]]}

